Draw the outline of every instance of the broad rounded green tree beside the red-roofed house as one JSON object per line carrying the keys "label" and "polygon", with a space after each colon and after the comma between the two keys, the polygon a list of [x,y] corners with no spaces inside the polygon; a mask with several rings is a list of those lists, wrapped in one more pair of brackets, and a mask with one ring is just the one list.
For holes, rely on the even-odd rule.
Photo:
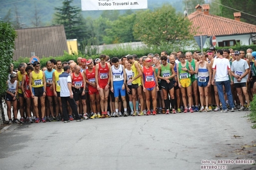
{"label": "broad rounded green tree beside the red-roofed house", "polygon": [[153,12],[146,10],[137,13],[133,35],[148,45],[174,44],[193,38],[191,26],[187,17],[176,13],[171,5],[165,5]]}

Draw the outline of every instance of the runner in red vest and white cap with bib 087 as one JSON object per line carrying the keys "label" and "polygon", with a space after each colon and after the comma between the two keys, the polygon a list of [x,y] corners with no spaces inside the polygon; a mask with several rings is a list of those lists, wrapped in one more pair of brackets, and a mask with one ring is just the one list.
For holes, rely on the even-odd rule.
{"label": "runner in red vest and white cap with bib 087", "polygon": [[[150,115],[150,99],[153,100],[153,115],[156,115],[156,109],[157,109],[157,98],[156,94],[158,89],[158,81],[157,81],[157,75],[155,73],[155,68],[152,67],[152,59],[146,58],[145,60],[146,65],[142,68],[143,78],[141,79],[143,91],[146,93],[146,106],[147,106],[147,113],[146,115]],[[157,88],[155,88],[157,86]]]}

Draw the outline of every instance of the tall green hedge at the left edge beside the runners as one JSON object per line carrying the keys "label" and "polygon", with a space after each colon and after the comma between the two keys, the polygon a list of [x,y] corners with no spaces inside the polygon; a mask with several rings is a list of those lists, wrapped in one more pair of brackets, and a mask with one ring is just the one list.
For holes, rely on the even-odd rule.
{"label": "tall green hedge at the left edge beside the runners", "polygon": [[[16,32],[13,27],[6,22],[0,22],[0,96],[3,100],[6,91],[6,81],[12,63],[13,50],[15,49]],[[0,125],[3,124],[3,103],[0,104]]]}

